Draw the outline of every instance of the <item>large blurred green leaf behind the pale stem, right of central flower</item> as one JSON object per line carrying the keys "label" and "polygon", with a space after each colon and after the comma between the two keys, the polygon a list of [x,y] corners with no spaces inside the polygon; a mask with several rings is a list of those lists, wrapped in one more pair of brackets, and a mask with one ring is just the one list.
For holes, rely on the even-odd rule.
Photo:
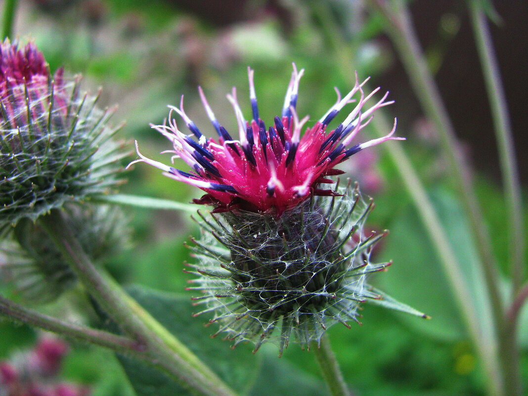
{"label": "large blurred green leaf behind the pale stem, right of central flower", "polygon": [[[431,200],[464,274],[483,336],[493,337],[486,286],[464,213],[454,197],[445,191],[433,191]],[[375,279],[376,284],[398,300],[432,317],[432,320],[406,317],[402,317],[402,320],[439,340],[457,341],[464,338],[464,325],[444,270],[411,206],[394,219],[381,259],[389,257],[394,260],[394,265],[385,276]]]}

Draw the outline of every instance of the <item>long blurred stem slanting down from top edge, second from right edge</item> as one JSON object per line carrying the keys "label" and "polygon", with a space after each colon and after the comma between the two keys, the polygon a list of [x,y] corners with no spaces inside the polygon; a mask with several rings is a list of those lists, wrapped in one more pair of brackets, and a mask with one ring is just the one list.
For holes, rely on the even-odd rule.
{"label": "long blurred stem slanting down from top edge, second from right edge", "polygon": [[451,176],[468,214],[475,242],[483,268],[484,279],[492,306],[494,325],[498,329],[502,320],[502,296],[498,288],[498,274],[491,242],[476,199],[470,172],[459,155],[455,131],[451,125],[438,87],[427,67],[425,56],[413,30],[409,10],[400,0],[396,8],[389,8],[383,0],[367,0],[380,11],[387,22],[387,33],[391,36],[407,74],[426,115],[435,124],[440,135],[442,150],[447,157]]}

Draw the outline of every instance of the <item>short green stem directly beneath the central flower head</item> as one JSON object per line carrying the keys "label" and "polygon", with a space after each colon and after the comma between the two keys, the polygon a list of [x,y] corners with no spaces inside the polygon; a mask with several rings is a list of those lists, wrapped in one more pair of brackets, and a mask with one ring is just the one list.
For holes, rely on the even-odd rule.
{"label": "short green stem directly beneath the central flower head", "polygon": [[317,359],[317,363],[319,363],[319,368],[332,396],[352,396],[343,379],[343,374],[335,359],[334,352],[332,352],[328,335],[326,333],[323,334],[319,345],[313,342],[312,349],[314,350],[315,358]]}

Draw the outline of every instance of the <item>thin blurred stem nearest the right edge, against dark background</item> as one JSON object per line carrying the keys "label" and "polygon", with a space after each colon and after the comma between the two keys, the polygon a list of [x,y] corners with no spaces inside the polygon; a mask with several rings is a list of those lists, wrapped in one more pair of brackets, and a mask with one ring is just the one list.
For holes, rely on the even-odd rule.
{"label": "thin blurred stem nearest the right edge, against dark background", "polygon": [[521,185],[515,165],[513,133],[510,117],[508,116],[506,96],[501,83],[501,73],[498,69],[486,15],[482,10],[482,2],[470,0],[468,3],[477,50],[486,82],[489,107],[492,111],[499,161],[504,180],[506,208],[510,224],[510,227],[508,227],[510,230],[510,237],[508,238],[510,241],[510,277],[513,284],[513,295],[515,295],[523,280],[524,231]]}

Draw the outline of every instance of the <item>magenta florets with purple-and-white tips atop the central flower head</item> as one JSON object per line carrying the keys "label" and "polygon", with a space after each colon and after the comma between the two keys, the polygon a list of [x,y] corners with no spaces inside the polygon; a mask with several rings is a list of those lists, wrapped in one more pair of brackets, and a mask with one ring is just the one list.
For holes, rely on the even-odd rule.
{"label": "magenta florets with purple-and-white tips atop the central flower head", "polygon": [[[362,86],[368,79],[360,83],[357,73],[354,88],[344,98],[341,98],[337,91],[338,98],[335,105],[301,136],[301,130],[308,116],[299,120],[295,108],[299,80],[303,72],[304,69],[298,72],[294,64],[281,117],[275,117],[274,125],[266,128],[264,121],[259,117],[253,70],[248,68],[252,120],[247,121],[244,118],[238,105],[235,88],[231,95],[227,96],[237,117],[238,138],[233,138],[220,125],[200,87],[203,105],[219,135],[218,140],[208,139],[202,135],[194,122],[185,114],[183,96],[180,108],[169,106],[171,111],[168,125],[152,125],[152,127],[172,142],[174,149],[167,152],[173,153],[173,158],[182,158],[192,168],[191,173],[143,156],[137,149],[137,142],[136,149],[140,159],[133,163],[145,162],[162,169],[164,175],[168,177],[201,188],[207,194],[194,202],[213,204],[214,212],[241,209],[281,215],[304,201],[310,194],[335,195],[334,191],[321,188],[320,184],[335,183],[326,176],[343,173],[335,169],[337,164],[346,161],[366,147],[390,139],[404,138],[393,136],[396,127],[394,120],[394,127],[388,135],[352,145],[357,133],[369,124],[374,111],[393,103],[385,101],[387,92],[374,106],[364,109],[365,103],[378,92],[379,88],[365,95]],[[353,110],[337,128],[328,133],[326,127],[329,122],[347,103],[353,101],[352,97],[356,93],[359,93],[360,98],[356,101]],[[178,129],[176,121],[172,118],[173,111],[183,118],[197,141]]]}

